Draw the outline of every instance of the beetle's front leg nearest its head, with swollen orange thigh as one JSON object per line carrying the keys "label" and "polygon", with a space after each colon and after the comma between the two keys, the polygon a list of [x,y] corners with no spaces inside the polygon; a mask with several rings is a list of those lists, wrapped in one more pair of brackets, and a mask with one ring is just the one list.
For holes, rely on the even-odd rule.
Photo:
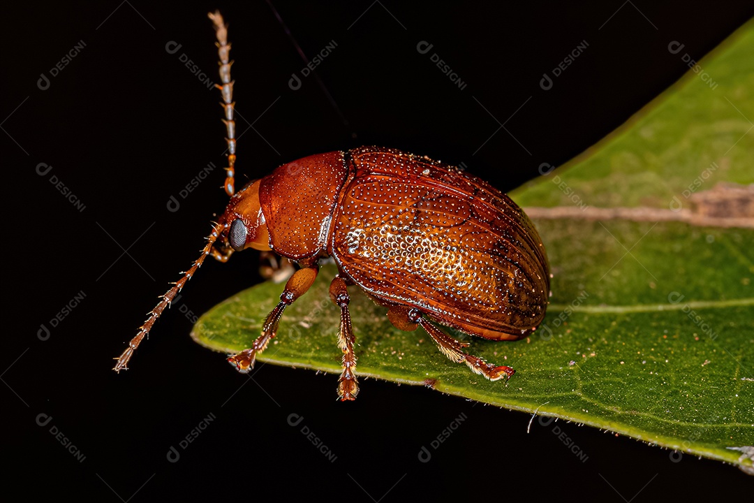
{"label": "beetle's front leg nearest its head, with swollen orange thigh", "polygon": [[249,370],[254,368],[254,361],[256,355],[265,351],[267,345],[275,334],[277,333],[277,325],[280,323],[280,317],[283,316],[285,308],[306,293],[309,290],[311,284],[314,283],[314,279],[317,278],[317,272],[319,267],[314,264],[311,267],[299,269],[293,276],[291,276],[285,285],[285,290],[280,294],[280,302],[275,308],[267,315],[265,324],[262,325],[262,335],[254,341],[251,348],[244,349],[238,354],[231,354],[228,356],[228,363],[238,370],[240,373],[248,373]]}

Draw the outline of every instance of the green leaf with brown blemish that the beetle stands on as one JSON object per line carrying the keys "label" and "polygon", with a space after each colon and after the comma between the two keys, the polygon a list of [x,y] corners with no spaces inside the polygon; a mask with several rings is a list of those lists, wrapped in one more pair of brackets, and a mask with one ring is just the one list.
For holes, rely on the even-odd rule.
{"label": "green leaf with brown blemish that the beetle stands on", "polygon": [[[511,194],[550,257],[547,317],[520,342],[454,333],[514,367],[507,385],[451,363],[421,329],[396,330],[354,288],[357,373],[754,470],[754,186],[715,188],[754,183],[752,54],[750,22],[621,129]],[[335,274],[323,267],[259,360],[340,373]],[[225,353],[250,347],[281,291],[238,293],[192,336]]]}

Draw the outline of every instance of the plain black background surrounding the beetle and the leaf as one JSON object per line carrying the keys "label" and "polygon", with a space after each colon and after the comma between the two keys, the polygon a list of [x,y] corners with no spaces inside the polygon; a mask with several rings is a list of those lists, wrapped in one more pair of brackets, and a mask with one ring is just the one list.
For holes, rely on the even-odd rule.
{"label": "plain black background surrounding the beetle and the leaf", "polygon": [[[2,492],[96,501],[654,501],[740,497],[751,488],[719,462],[673,462],[679,456],[668,450],[564,422],[535,420],[526,434],[526,414],[426,388],[362,380],[358,400],[340,403],[336,376],[262,365],[247,379],[189,339],[177,305],[131,370],[110,370],[155,297],[198,256],[227,201],[219,92],[179,60],[186,54],[218,81],[207,11],[222,10],[233,44],[238,186],[305,155],[375,144],[464,162],[507,191],[542,162],[562,164],[587,149],[676,81],[687,68],[670,41],[699,59],[751,17],[750,2],[274,2],[308,57],[336,42],[316,72],[348,126],[313,76],[290,89],[304,63],[264,2],[118,2],[4,7],[0,148],[12,279],[3,282]],[[81,53],[41,90],[40,74],[49,77],[79,41]],[[181,44],[176,54],[165,49],[170,41]],[[428,54],[418,53],[419,41],[433,44]],[[543,73],[582,41],[586,51],[543,90]],[[434,66],[434,53],[463,90]],[[170,195],[210,161],[216,171],[168,211]],[[39,163],[53,170],[38,176]],[[195,314],[258,281],[254,252],[210,262],[183,291],[181,305]],[[40,325],[81,291],[80,305],[40,340]],[[296,428],[287,423],[293,413],[304,417]],[[51,422],[37,425],[40,414]],[[182,449],[210,414],[216,419]],[[467,419],[432,449],[461,414]],[[167,460],[171,446],[178,462]],[[421,446],[429,462],[419,462]]]}

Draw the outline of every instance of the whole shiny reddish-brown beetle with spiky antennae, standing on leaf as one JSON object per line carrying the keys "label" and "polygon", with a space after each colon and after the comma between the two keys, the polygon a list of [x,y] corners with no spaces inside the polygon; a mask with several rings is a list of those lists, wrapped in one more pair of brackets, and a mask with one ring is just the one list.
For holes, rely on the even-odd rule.
{"label": "whole shiny reddish-brown beetle with spiky antennae, standing on leaf", "polygon": [[434,323],[495,340],[520,339],[538,327],[547,309],[550,272],[526,213],[458,167],[381,147],[311,155],[236,192],[230,45],[222,17],[216,12],[210,18],[218,38],[222,86],[217,87],[228,132],[225,192],[231,199],[199,258],[152,309],[114,370],[127,369],[133,351],[207,256],[225,262],[235,251],[253,248],[274,250],[299,268],[252,347],[228,356],[239,372],[253,368],[285,308],[311,287],[320,261],[329,256],[339,271],[329,296],[340,308],[341,400],[354,400],[359,389],[348,311],[352,285],[388,308],[398,329],[421,327],[450,360],[491,381],[509,379],[512,368],[468,354],[467,342]]}

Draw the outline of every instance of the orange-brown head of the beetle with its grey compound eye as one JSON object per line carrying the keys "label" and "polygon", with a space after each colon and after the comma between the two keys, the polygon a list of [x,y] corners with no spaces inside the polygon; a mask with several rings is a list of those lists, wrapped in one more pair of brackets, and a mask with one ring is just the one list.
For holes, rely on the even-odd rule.
{"label": "orange-brown head of the beetle with its grey compound eye", "polygon": [[235,251],[245,248],[271,250],[267,222],[259,203],[261,179],[250,182],[231,198],[221,222],[225,222],[222,238]]}

